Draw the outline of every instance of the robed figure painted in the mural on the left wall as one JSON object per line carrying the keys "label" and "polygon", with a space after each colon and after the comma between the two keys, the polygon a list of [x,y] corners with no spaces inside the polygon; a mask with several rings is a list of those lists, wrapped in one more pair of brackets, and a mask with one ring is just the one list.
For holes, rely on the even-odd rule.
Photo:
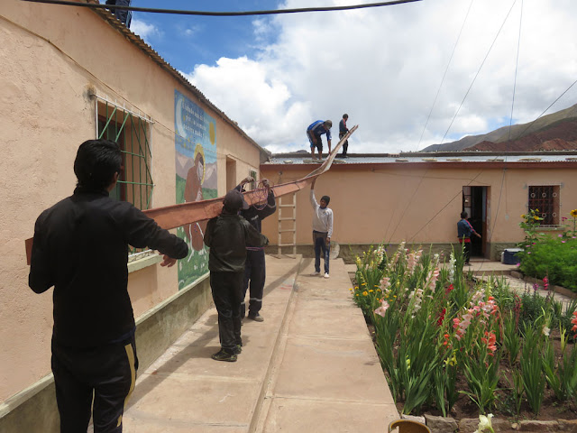
{"label": "robed figure painted in the mural on the left wall", "polygon": [[[202,193],[202,184],[205,181],[205,155],[203,148],[197,144],[195,149],[194,165],[188,170],[187,183],[184,189],[185,202],[204,200]],[[185,234],[188,237],[190,247],[195,251],[204,248],[204,235],[208,221],[199,221],[197,223],[185,226]]]}

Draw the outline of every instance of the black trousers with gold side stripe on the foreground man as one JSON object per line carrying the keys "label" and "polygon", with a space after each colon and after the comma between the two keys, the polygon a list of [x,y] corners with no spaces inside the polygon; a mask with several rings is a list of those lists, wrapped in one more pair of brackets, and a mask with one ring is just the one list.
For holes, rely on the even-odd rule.
{"label": "black trousers with gold side stripe on the foreground man", "polygon": [[86,432],[93,405],[95,433],[120,433],[136,382],[134,336],[110,345],[78,348],[52,342],[52,373],[60,433]]}

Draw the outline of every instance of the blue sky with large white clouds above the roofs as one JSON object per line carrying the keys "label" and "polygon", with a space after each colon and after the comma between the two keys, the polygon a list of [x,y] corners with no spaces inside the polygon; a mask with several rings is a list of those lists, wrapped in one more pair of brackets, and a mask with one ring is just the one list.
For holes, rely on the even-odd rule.
{"label": "blue sky with large white clouds above the roofs", "polygon": [[[249,11],[375,0],[133,0]],[[102,2],[104,3],[104,1]],[[270,152],[349,115],[350,153],[417,152],[577,103],[576,0],[422,0],[249,17],[134,13],[131,30]],[[570,88],[572,86],[572,88]],[[569,90],[567,90],[569,88]],[[561,95],[564,93],[563,97]]]}

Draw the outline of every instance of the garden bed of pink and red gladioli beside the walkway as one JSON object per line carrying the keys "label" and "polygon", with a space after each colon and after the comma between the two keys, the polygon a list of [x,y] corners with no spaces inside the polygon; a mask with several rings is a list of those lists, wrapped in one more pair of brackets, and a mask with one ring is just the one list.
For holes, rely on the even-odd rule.
{"label": "garden bed of pink and red gladioli beside the walkway", "polygon": [[353,299],[399,413],[453,418],[462,432],[489,413],[503,422],[495,431],[577,431],[577,301],[563,310],[503,279],[466,281],[463,257],[440,269],[438,256],[402,245],[356,264]]}

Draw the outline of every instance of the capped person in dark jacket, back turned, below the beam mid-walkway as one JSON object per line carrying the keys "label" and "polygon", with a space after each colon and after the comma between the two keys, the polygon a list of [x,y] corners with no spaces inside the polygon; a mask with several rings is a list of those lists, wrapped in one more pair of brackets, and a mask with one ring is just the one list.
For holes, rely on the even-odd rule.
{"label": "capped person in dark jacket, back turned, below the beam mid-walkway", "polygon": [[240,191],[228,191],[223,204],[222,214],[208,221],[205,232],[205,244],[210,247],[210,288],[218,311],[221,345],[221,350],[212,355],[212,358],[216,361],[234,362],[243,346],[241,301],[246,245],[266,245],[269,244],[269,239],[238,215],[241,209],[248,208]]}

